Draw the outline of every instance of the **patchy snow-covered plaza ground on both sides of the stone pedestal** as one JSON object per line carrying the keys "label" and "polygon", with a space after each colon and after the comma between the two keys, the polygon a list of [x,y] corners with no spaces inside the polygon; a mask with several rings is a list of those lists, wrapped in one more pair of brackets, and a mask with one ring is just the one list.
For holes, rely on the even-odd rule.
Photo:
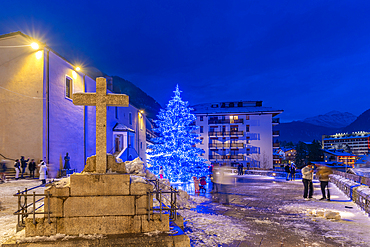
{"label": "patchy snow-covered plaza ground on both sides of the stone pedestal", "polygon": [[[184,217],[185,233],[191,238],[192,246],[220,246],[234,244],[235,241],[236,243],[242,241],[253,242],[259,238],[263,239],[264,234],[271,233],[271,229],[276,229],[278,235],[288,235],[286,229],[289,229],[294,236],[301,239],[304,246],[323,246],[322,243],[326,243],[328,239],[331,239],[334,243],[342,243],[342,246],[370,246],[370,218],[334,184],[330,184],[332,201],[318,200],[321,197],[318,183],[314,183],[315,199],[304,201],[301,195],[301,188],[303,187],[301,181],[285,182],[271,177],[255,175],[249,175],[249,178],[265,182],[247,183],[243,185],[247,187],[239,187],[239,191],[234,191],[235,193],[230,195],[231,205],[222,205],[204,196],[190,197],[195,205],[210,209],[208,212],[198,210],[199,207],[179,211]],[[13,215],[13,212],[17,209],[17,200],[13,194],[18,190],[24,190],[26,187],[30,188],[39,184],[38,180],[13,180],[0,184],[2,207],[0,209],[0,244],[15,235],[17,216]],[[238,189],[235,188],[235,190]],[[244,188],[249,188],[248,190],[254,188],[253,190],[256,191],[257,195],[246,193],[247,191]],[[295,190],[291,195],[285,194],[291,189]],[[44,188],[39,188],[37,192],[43,190]],[[278,192],[283,190],[286,191]],[[270,198],[272,197],[269,197],[268,200],[270,201],[268,202],[270,205],[274,205],[272,209],[275,212],[257,213],[257,211],[266,210],[258,201],[264,203],[264,200],[266,200],[264,197],[268,195],[262,193],[267,193],[267,191],[270,191],[271,195],[274,193],[281,193],[280,196],[283,197],[286,195],[287,203],[274,205],[271,204]],[[210,197],[210,194],[207,194],[207,196]],[[253,212],[256,212],[256,214]],[[324,217],[325,214],[328,215],[329,213],[332,215],[339,214],[340,219]],[[266,217],[258,217],[261,215]],[[271,217],[267,217],[268,215]],[[323,233],[319,235],[319,238],[322,239],[312,240],[312,237],[310,238],[312,226],[319,229],[317,232]],[[20,237],[22,238],[22,236]],[[69,236],[55,237],[68,238]],[[351,243],[351,245],[347,243]],[[289,244],[287,243],[284,246],[289,246]],[[327,246],[335,245],[329,244]]]}

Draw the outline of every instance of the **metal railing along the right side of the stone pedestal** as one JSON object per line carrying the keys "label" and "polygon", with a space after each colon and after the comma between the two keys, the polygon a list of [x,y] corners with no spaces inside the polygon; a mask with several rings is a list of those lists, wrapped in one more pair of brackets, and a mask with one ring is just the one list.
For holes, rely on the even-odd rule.
{"label": "metal railing along the right side of the stone pedestal", "polygon": [[[153,192],[147,192],[148,195],[148,221],[150,221],[151,214],[154,213],[154,211],[159,211],[159,217],[160,221],[162,221],[162,213],[163,211],[168,211],[170,214],[170,219],[177,219],[177,194],[179,191],[176,188],[173,188],[172,186],[168,186],[164,183],[161,183],[159,179],[151,179],[148,180],[150,183],[154,185]],[[166,190],[162,190],[160,188],[160,185],[163,185]],[[155,195],[155,198],[159,202],[159,208],[151,207],[150,205],[150,199],[151,195]],[[169,195],[166,197],[166,195]],[[169,197],[169,198],[168,198]]]}

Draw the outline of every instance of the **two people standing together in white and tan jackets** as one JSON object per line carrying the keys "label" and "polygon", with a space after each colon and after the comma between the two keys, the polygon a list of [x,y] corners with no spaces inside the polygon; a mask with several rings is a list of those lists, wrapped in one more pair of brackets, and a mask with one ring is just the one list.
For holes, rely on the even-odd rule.
{"label": "two people standing together in white and tan jackets", "polygon": [[[305,200],[310,200],[313,196],[313,173],[314,173],[314,164],[308,163],[307,166],[302,168],[302,182],[304,186],[303,198]],[[320,200],[330,201],[330,191],[329,191],[329,175],[333,171],[327,166],[319,166],[316,172],[316,177],[320,181],[322,198]],[[326,189],[326,191],[325,191]]]}

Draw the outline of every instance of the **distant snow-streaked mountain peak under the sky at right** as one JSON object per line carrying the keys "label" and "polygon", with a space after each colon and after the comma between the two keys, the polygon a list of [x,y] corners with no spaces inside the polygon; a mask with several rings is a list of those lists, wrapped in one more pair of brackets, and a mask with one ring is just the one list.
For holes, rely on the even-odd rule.
{"label": "distant snow-streaked mountain peak under the sky at right", "polygon": [[356,118],[349,112],[331,111],[324,115],[306,118],[302,122],[328,128],[343,128],[355,121]]}

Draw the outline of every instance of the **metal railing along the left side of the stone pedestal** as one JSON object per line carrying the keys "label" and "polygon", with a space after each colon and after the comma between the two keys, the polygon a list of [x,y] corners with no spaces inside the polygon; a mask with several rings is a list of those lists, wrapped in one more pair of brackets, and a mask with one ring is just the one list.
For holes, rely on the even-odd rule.
{"label": "metal railing along the left side of the stone pedestal", "polygon": [[[52,182],[50,182],[52,183]],[[49,183],[49,184],[50,184]],[[46,194],[36,194],[35,191],[33,193],[29,193],[31,190],[45,187],[47,184],[41,184],[39,186],[35,186],[31,189],[25,189],[24,191],[18,190],[18,193],[14,194],[13,196],[18,197],[18,210],[15,211],[13,214],[17,215],[17,232],[22,230],[25,227],[25,219],[28,218],[29,215],[32,215],[33,217],[33,224],[36,225],[36,214],[47,214],[48,215],[48,223],[51,224],[50,220],[50,192],[48,191]],[[28,204],[28,197],[32,197],[32,202]],[[36,197],[41,197],[36,200]],[[48,200],[48,210],[45,212],[45,209],[43,212],[38,212],[41,207],[44,206],[44,203],[42,203],[40,206],[36,207],[36,203],[41,202],[45,199],[45,197]]]}

